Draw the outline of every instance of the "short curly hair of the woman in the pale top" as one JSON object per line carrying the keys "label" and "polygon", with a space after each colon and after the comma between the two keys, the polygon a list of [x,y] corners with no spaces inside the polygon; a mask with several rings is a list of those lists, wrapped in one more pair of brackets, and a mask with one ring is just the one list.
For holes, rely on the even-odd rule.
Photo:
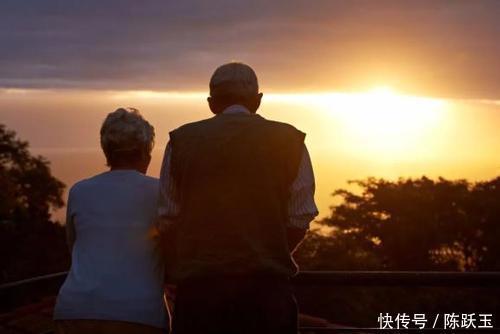
{"label": "short curly hair of the woman in the pale top", "polygon": [[113,153],[143,150],[150,154],[154,138],[153,126],[134,108],[109,113],[101,127],[101,147],[108,162]]}

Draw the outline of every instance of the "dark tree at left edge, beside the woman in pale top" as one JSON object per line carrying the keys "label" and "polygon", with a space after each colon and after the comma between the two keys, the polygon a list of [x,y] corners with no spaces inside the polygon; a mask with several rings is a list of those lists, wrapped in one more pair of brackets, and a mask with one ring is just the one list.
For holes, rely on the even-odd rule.
{"label": "dark tree at left edge, beside the woman in pale top", "polygon": [[68,266],[64,229],[50,212],[64,205],[64,184],[28,143],[0,124],[0,281]]}

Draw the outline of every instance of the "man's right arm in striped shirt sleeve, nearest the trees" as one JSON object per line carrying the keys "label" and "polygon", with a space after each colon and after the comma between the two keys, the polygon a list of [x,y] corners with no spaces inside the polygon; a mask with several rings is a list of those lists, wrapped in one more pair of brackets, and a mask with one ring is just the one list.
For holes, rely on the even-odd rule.
{"label": "man's right arm in striped shirt sleeve, nearest the trees", "polygon": [[297,177],[290,187],[288,202],[289,223],[287,234],[291,253],[304,239],[309,224],[318,215],[318,208],[314,202],[314,191],[314,172],[309,152],[304,144]]}

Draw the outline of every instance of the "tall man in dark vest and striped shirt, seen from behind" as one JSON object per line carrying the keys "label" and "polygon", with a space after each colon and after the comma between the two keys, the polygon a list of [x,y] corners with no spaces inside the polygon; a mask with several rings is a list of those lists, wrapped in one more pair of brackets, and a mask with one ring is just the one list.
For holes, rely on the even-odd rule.
{"label": "tall man in dark vest and striped shirt, seen from behind", "polygon": [[251,67],[220,66],[214,117],[170,133],[159,215],[174,333],[297,333],[291,254],[318,211],[305,134],[256,114]]}

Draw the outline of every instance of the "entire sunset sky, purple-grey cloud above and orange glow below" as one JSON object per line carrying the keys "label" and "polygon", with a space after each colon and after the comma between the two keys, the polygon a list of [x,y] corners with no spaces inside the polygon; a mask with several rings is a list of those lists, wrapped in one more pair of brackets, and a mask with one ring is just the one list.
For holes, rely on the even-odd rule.
{"label": "entire sunset sky, purple-grey cloud above and orange glow below", "polygon": [[213,70],[253,66],[260,113],[307,133],[321,215],[353,178],[500,174],[500,1],[2,1],[0,123],[68,185],[104,170],[119,106],[210,116]]}

